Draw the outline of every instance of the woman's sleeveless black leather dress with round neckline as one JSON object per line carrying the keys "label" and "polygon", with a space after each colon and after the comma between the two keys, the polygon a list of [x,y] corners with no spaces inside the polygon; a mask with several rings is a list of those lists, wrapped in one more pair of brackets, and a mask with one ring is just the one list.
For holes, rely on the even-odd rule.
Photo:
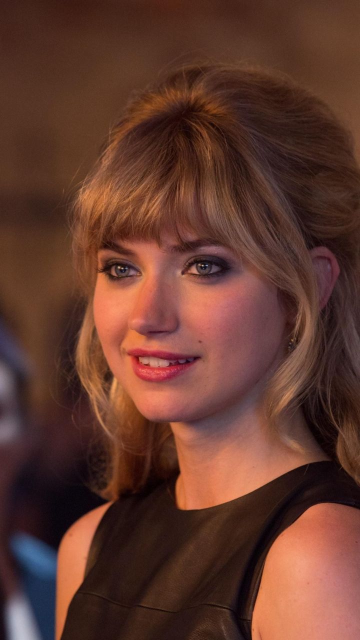
{"label": "woman's sleeveless black leather dress with round neckline", "polygon": [[177,509],[174,483],[106,511],[61,640],[250,640],[275,538],[320,502],[360,509],[360,488],[331,461],[207,509]]}

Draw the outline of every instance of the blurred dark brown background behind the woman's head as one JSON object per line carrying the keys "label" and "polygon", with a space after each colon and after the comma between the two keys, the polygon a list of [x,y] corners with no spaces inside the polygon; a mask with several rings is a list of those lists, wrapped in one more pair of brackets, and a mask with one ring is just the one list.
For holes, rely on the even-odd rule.
{"label": "blurred dark brown background behind the woman's head", "polygon": [[5,0],[0,24],[0,315],[26,361],[12,527],[55,548],[97,504],[83,488],[93,431],[72,376],[81,304],[67,211],[102,141],[131,92],[172,63],[211,58],[288,72],[359,147],[360,3]]}

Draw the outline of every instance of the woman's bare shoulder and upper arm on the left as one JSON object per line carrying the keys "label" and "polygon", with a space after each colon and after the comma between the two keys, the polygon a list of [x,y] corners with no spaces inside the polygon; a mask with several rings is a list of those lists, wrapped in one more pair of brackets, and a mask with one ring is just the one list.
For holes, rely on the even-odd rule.
{"label": "woman's bare shoulder and upper arm on the left", "polygon": [[79,518],[61,540],[56,579],[56,640],[60,639],[70,600],[83,582],[94,533],[110,504],[102,504]]}

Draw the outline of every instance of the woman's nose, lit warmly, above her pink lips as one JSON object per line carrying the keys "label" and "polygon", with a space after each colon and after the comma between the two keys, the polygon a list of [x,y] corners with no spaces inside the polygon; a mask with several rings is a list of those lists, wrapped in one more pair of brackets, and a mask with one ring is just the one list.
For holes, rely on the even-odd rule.
{"label": "woman's nose, lit warmly, above her pink lips", "polygon": [[146,280],[136,291],[129,329],[147,335],[170,333],[178,326],[176,292],[170,283]]}

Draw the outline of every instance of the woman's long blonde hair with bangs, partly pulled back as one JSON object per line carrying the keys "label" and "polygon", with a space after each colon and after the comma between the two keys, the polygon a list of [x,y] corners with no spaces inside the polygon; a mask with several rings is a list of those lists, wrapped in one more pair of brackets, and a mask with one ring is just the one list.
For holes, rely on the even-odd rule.
{"label": "woman's long blonde hair with bangs, partly pulled back", "polygon": [[[176,468],[168,424],[153,424],[108,369],[92,316],[95,257],[115,236],[164,229],[216,239],[255,264],[295,317],[295,350],[268,384],[270,425],[302,406],[334,460],[360,483],[360,176],[348,132],[287,77],[243,65],[192,65],[131,101],[79,192],[74,248],[88,307],[77,365],[106,432],[103,495]],[[323,310],[309,249],[340,276]]]}

